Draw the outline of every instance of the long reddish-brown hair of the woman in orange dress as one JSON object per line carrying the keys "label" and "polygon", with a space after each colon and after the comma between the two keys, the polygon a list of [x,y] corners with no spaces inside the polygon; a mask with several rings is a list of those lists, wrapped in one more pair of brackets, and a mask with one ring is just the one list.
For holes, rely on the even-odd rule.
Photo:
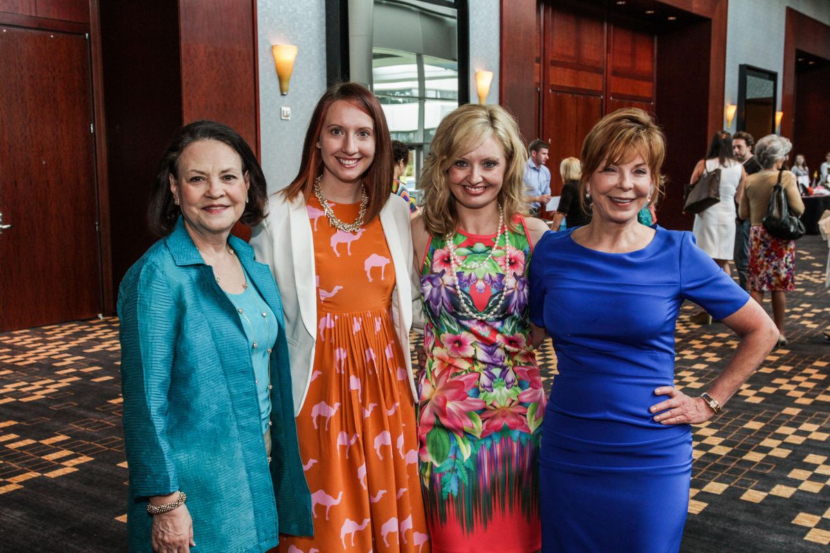
{"label": "long reddish-brown hair of the woman in orange dress", "polygon": [[316,143],[320,140],[320,132],[323,129],[323,120],[334,102],[348,102],[357,109],[369,115],[374,123],[374,159],[369,170],[364,174],[364,186],[366,196],[369,196],[369,206],[366,208],[366,219],[369,222],[378,216],[380,210],[386,205],[389,199],[392,177],[392,138],[389,137],[389,129],[386,124],[386,116],[383,115],[383,108],[375,96],[364,86],[357,83],[345,82],[332,86],[326,90],[314,113],[311,114],[309,127],[305,131],[305,142],[303,143],[303,157],[300,161],[300,171],[284,190],[281,191],[286,200],[294,200],[302,195],[308,201],[314,190],[314,183],[323,172],[323,158]]}

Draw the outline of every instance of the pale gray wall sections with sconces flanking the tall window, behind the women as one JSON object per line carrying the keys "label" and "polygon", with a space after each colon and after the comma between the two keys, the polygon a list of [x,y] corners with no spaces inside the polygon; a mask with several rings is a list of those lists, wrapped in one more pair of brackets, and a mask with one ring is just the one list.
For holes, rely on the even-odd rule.
{"label": "pale gray wall sections with sconces flanking the tall window, behind the women", "polygon": [[[499,0],[470,3],[470,90],[476,96],[476,70],[493,71],[487,101],[499,102]],[[262,169],[273,192],[285,187],[300,168],[305,129],[320,95],[325,92],[325,0],[256,1]],[[475,32],[472,32],[475,30]],[[287,96],[280,95],[272,44],[298,47]],[[280,119],[281,106],[291,108],[291,120]]]}

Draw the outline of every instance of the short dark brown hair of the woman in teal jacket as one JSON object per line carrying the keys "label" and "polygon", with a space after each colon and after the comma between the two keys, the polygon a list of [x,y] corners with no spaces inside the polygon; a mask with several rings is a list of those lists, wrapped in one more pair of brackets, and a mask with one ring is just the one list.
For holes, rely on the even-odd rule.
{"label": "short dark brown hair of the woman in teal jacket", "polygon": [[178,159],[190,144],[202,140],[225,143],[242,159],[242,174],[247,173],[249,188],[245,211],[242,211],[239,221],[247,226],[255,226],[265,217],[268,186],[251,147],[237,131],[227,125],[202,119],[178,129],[159,162],[147,210],[149,228],[156,235],[168,235],[176,226],[182,211],[173,201],[170,177],[178,181]]}

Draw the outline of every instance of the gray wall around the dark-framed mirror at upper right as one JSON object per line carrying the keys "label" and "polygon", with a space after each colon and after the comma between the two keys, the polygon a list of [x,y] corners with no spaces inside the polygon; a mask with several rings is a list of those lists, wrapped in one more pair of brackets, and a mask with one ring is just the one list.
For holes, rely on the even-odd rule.
{"label": "gray wall around the dark-framed mirror at upper right", "polygon": [[[748,64],[778,73],[778,105],[775,109],[781,109],[787,7],[830,25],[828,0],[730,0],[724,106],[738,103],[738,66]],[[734,121],[731,130],[735,130]]]}

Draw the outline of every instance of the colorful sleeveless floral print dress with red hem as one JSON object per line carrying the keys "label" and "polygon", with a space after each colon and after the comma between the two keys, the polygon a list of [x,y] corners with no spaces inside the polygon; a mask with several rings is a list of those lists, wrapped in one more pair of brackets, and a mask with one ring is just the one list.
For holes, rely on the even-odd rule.
{"label": "colorful sleeveless floral print dress with red hem", "polygon": [[[432,239],[422,263],[427,368],[418,438],[436,553],[540,549],[536,455],[545,400],[530,345],[530,242],[520,219],[515,226],[473,270],[465,265],[486,260],[496,235],[453,236],[457,279],[444,239]],[[484,313],[502,292],[488,320],[463,314],[459,293]]]}

